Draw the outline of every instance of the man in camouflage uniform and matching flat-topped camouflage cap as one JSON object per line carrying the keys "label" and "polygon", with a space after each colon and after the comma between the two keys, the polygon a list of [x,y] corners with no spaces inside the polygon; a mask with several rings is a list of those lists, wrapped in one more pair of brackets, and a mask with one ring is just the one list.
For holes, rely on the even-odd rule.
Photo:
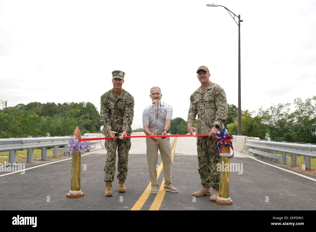
{"label": "man in camouflage uniform and matching flat-topped camouflage cap", "polygon": [[[102,134],[105,137],[131,136],[134,116],[134,98],[122,89],[125,73],[122,71],[112,72],[113,88],[101,96],[101,122]],[[120,134],[118,134],[120,133]],[[125,192],[124,181],[128,170],[128,152],[131,149],[131,139],[107,139],[105,140],[106,162],[104,167],[104,181],[106,181],[105,196],[112,196],[112,182],[115,174],[116,149],[118,150],[118,175],[119,192]]]}

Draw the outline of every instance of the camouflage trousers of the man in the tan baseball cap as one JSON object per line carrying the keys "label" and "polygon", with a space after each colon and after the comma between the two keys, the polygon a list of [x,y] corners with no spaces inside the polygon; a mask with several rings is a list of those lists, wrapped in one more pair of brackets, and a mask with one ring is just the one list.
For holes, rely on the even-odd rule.
{"label": "camouflage trousers of the man in the tan baseball cap", "polygon": [[198,172],[201,184],[205,187],[219,188],[219,172],[216,164],[220,163],[220,156],[216,150],[216,139],[197,137]]}

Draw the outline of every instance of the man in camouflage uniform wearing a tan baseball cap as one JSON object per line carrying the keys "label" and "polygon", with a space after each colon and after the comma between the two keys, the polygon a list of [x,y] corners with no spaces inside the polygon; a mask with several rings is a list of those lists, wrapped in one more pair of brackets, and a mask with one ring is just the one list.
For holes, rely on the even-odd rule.
{"label": "man in camouflage uniform wearing a tan baseball cap", "polygon": [[193,123],[197,115],[197,133],[210,134],[209,137],[197,137],[197,160],[198,171],[201,177],[199,191],[193,196],[210,196],[213,188],[211,201],[219,196],[219,172],[216,171],[216,164],[220,163],[220,156],[216,150],[216,133],[224,128],[228,116],[226,94],[221,86],[210,81],[210,72],[206,66],[197,68],[197,79],[201,86],[192,93],[190,97],[190,108],[188,112],[188,130],[193,134]]}

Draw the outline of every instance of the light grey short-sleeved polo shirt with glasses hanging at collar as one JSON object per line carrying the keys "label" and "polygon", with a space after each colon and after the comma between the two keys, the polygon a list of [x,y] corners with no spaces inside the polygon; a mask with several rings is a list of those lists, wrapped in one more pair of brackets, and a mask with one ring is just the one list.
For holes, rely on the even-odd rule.
{"label": "light grey short-sleeved polo shirt with glasses hanging at collar", "polygon": [[160,102],[158,110],[154,104],[150,104],[143,111],[143,125],[149,126],[150,132],[162,134],[166,119],[172,120],[172,111],[172,106],[165,102]]}

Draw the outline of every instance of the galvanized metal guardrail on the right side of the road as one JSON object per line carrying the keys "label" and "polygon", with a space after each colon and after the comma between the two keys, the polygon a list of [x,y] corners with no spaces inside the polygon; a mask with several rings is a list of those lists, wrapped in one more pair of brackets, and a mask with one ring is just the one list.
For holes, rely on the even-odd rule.
{"label": "galvanized metal guardrail on the right side of the road", "polygon": [[[313,144],[301,144],[301,143],[289,143],[289,142],[273,142],[264,140],[246,140],[246,146],[248,151],[254,154],[263,156],[265,159],[277,162],[281,160],[281,164],[286,164],[287,156],[290,154],[291,166],[296,166],[296,156],[304,157],[305,168],[311,168],[311,158],[316,158],[316,145]],[[281,155],[278,155],[281,152]]]}

